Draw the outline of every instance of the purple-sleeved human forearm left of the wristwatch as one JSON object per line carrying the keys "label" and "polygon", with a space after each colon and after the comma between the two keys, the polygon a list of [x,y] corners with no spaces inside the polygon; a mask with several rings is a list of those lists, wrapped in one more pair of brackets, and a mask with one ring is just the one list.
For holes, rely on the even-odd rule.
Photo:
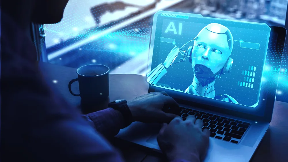
{"label": "purple-sleeved human forearm left of the wristwatch", "polygon": [[83,117],[106,138],[114,137],[120,129],[124,128],[122,114],[113,108],[96,111]]}

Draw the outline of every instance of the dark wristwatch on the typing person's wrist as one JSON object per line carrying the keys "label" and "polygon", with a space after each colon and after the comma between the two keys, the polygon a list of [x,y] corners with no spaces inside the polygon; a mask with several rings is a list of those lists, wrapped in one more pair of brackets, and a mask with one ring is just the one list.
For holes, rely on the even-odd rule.
{"label": "dark wristwatch on the typing person's wrist", "polygon": [[128,127],[128,125],[130,125],[133,122],[133,116],[127,105],[126,100],[116,100],[116,101],[110,102],[108,104],[108,107],[111,107],[114,110],[120,111],[120,113],[123,115],[125,127]]}

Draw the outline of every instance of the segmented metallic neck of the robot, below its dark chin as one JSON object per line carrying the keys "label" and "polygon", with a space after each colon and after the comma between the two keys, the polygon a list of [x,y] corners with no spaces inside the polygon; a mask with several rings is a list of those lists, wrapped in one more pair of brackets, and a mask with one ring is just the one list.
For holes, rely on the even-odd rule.
{"label": "segmented metallic neck of the robot, below its dark chin", "polygon": [[[191,84],[192,94],[196,94],[199,96],[214,98],[215,91],[214,91],[214,84],[215,84],[215,78],[197,78],[196,75],[194,75],[193,82]],[[191,93],[191,92],[190,92]]]}

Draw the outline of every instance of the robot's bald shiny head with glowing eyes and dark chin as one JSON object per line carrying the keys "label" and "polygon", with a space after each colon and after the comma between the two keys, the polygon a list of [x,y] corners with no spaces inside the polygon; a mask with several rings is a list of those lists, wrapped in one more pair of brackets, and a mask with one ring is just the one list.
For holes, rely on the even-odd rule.
{"label": "robot's bald shiny head with glowing eyes and dark chin", "polygon": [[232,49],[233,37],[227,27],[216,23],[204,27],[194,38],[191,52],[195,75],[210,78],[229,71],[233,62]]}

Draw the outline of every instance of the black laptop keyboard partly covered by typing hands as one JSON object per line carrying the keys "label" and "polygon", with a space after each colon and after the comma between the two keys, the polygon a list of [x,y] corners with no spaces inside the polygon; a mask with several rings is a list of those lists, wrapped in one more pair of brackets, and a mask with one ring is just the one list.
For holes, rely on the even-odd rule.
{"label": "black laptop keyboard partly covered by typing hands", "polygon": [[242,137],[249,129],[250,123],[230,119],[227,117],[205,113],[190,108],[180,107],[179,110],[172,110],[170,108],[163,110],[166,113],[173,113],[179,115],[185,120],[188,115],[193,115],[196,119],[203,121],[204,126],[202,129],[210,130],[210,137],[227,142],[238,144]]}

